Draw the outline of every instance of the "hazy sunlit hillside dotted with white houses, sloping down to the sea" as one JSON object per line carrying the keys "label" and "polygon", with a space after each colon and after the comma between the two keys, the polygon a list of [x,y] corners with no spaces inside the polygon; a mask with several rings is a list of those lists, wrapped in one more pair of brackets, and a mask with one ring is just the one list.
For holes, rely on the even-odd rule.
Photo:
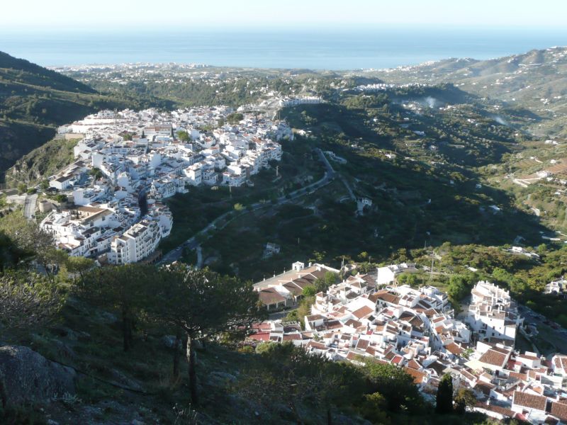
{"label": "hazy sunlit hillside dotted with white houses, sloping down to the sea", "polygon": [[468,93],[504,101],[507,108],[527,109],[541,119],[529,128],[535,135],[567,135],[567,47],[491,60],[448,59],[370,74],[398,84],[451,82]]}

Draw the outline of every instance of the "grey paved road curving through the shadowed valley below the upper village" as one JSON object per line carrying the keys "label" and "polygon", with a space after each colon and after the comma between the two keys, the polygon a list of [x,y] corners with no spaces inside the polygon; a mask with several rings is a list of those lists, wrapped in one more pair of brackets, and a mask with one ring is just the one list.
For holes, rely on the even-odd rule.
{"label": "grey paved road curving through the shadowed valley below the upper village", "polygon": [[332,168],[329,161],[327,161],[327,158],[325,158],[325,154],[323,154],[321,149],[316,148],[315,152],[318,153],[321,161],[323,162],[323,164],[325,164],[325,175],[322,176],[321,179],[315,181],[315,183],[311,183],[308,186],[298,189],[297,191],[288,193],[286,196],[280,196],[279,198],[276,199],[276,203],[259,203],[259,202],[253,203],[249,205],[249,208],[247,208],[245,212],[242,212],[242,214],[232,217],[232,219],[226,220],[223,224],[220,224],[232,213],[232,211],[225,212],[223,215],[216,217],[215,220],[210,222],[206,227],[199,230],[196,234],[193,235],[193,237],[190,237],[181,245],[177,246],[175,249],[172,249],[172,251],[169,251],[167,254],[164,254],[164,256],[158,262],[158,264],[173,263],[174,261],[179,260],[181,258],[181,254],[183,254],[184,248],[196,249],[196,247],[201,244],[201,242],[199,242],[198,240],[200,235],[206,234],[211,229],[221,230],[225,228],[230,222],[232,222],[232,220],[235,220],[236,217],[240,217],[241,215],[248,214],[249,212],[256,211],[261,208],[266,208],[266,207],[274,208],[274,206],[276,205],[288,203],[291,200],[301,198],[302,196],[305,195],[309,195],[315,191],[318,191],[320,188],[327,186],[327,184],[329,184],[333,179],[335,179],[336,176],[335,170]]}

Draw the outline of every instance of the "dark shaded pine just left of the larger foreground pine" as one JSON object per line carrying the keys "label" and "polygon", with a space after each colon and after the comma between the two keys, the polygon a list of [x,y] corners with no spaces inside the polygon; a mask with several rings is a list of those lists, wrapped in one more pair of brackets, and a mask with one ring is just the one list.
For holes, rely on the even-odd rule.
{"label": "dark shaded pine just left of the larger foreground pine", "polygon": [[95,268],[75,287],[80,297],[101,307],[120,311],[123,350],[133,346],[135,321],[147,304],[155,302],[152,290],[159,282],[155,266],[127,264]]}

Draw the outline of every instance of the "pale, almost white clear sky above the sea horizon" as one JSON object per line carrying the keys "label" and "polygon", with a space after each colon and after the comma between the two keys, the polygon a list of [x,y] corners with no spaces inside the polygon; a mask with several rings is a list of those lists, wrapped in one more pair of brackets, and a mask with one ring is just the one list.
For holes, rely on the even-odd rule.
{"label": "pale, almost white clear sky above the sea horizon", "polygon": [[[6,0],[0,33],[32,30],[565,27],[566,0]],[[1,40],[0,40],[1,44]]]}

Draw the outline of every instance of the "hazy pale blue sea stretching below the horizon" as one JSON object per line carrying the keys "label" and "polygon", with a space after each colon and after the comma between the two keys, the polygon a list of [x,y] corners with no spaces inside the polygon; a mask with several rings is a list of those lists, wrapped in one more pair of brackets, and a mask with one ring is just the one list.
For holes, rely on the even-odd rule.
{"label": "hazy pale blue sea stretching below the horizon", "polygon": [[567,28],[361,28],[9,32],[0,50],[44,66],[127,62],[225,67],[389,68],[448,57],[489,59],[567,45]]}

